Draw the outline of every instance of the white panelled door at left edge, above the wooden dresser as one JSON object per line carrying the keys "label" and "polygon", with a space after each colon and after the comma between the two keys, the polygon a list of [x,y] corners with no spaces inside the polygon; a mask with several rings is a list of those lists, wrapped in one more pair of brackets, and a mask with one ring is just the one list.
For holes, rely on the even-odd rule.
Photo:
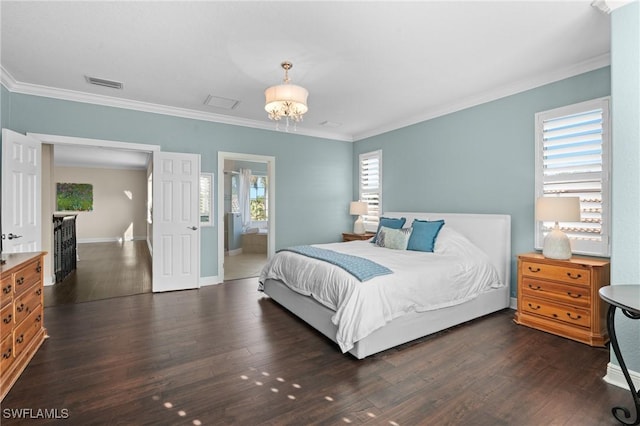
{"label": "white panelled door at left edge, above the wooden dresser", "polygon": [[42,249],[42,143],[2,129],[2,251]]}

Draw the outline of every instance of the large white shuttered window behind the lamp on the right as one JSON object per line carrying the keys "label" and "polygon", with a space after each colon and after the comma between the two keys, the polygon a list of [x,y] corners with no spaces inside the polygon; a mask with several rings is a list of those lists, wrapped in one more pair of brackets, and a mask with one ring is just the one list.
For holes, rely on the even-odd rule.
{"label": "large white shuttered window behind the lamp on the right", "polygon": [[[574,253],[609,256],[609,98],[536,114],[536,198],[580,197],[581,221],[560,223]],[[536,221],[536,248],[553,223]]]}

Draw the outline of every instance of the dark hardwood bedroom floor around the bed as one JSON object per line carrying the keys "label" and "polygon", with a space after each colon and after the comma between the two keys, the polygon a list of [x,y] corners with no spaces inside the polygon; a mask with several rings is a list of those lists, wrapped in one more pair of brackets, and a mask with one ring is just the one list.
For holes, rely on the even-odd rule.
{"label": "dark hardwood bedroom floor around the bed", "polygon": [[256,288],[46,308],[50,337],[2,424],[47,409],[74,425],[614,425],[611,407],[631,404],[602,380],[608,349],[510,310],[356,360]]}

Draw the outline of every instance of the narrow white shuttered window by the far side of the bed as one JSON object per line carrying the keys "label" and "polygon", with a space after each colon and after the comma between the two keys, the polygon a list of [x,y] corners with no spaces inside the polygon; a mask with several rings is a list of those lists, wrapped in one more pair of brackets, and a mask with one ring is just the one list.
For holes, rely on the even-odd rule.
{"label": "narrow white shuttered window by the far side of the bed", "polygon": [[360,154],[360,201],[367,203],[367,214],[363,215],[367,231],[378,228],[382,208],[382,151]]}

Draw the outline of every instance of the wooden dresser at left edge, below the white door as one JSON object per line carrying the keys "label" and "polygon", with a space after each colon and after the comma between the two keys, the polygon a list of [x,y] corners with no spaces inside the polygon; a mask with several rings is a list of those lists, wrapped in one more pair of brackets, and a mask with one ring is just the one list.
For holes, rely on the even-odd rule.
{"label": "wooden dresser at left edge, below the white door", "polygon": [[46,253],[4,254],[0,281],[0,400],[46,337],[42,269]]}

